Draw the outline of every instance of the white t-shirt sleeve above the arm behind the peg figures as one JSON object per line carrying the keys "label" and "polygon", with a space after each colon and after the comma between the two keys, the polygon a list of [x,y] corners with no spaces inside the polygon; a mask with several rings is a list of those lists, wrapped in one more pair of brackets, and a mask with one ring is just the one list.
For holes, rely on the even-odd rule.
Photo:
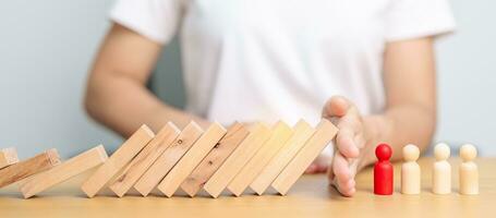
{"label": "white t-shirt sleeve above the arm behind the peg figures", "polygon": [[386,14],[386,40],[439,36],[455,31],[449,0],[394,0]]}

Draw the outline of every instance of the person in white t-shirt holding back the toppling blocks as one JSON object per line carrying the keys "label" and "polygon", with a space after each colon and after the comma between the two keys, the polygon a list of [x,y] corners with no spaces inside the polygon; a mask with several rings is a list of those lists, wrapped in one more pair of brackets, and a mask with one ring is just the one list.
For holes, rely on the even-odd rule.
{"label": "person in white t-shirt holding back the toppling blocks", "polygon": [[[119,0],[110,19],[87,82],[90,117],[124,137],[143,123],[329,119],[339,133],[306,172],[328,171],[344,196],[378,142],[394,160],[406,144],[428,146],[433,45],[455,28],[447,0]],[[184,110],[145,86],[174,35]]]}

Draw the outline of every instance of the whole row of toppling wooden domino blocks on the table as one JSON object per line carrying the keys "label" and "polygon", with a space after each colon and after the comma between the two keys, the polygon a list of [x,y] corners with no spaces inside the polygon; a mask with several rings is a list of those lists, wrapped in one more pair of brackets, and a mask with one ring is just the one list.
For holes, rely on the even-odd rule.
{"label": "whole row of toppling wooden domino blocks on the table", "polygon": [[63,162],[56,149],[17,162],[15,149],[4,149],[0,187],[23,180],[28,198],[99,166],[81,186],[88,197],[106,185],[120,197],[131,187],[143,196],[155,187],[167,197],[179,187],[192,197],[201,189],[213,197],[225,189],[240,196],[249,186],[258,195],[269,186],[285,195],[337,132],[327,120],[315,128],[303,120],[293,128],[213,123],[205,131],[195,122],[182,131],[169,122],[157,134],[142,125],[110,157],[99,145]]}

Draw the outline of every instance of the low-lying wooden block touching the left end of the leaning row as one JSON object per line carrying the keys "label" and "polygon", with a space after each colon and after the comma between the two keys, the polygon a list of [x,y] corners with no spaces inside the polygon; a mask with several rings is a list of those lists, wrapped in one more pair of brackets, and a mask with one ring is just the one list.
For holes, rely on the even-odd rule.
{"label": "low-lying wooden block touching the left end of the leaning row", "polygon": [[107,159],[108,156],[104,146],[96,146],[45,172],[28,178],[25,183],[21,184],[20,190],[24,198],[32,197],[60,182],[101,165]]}

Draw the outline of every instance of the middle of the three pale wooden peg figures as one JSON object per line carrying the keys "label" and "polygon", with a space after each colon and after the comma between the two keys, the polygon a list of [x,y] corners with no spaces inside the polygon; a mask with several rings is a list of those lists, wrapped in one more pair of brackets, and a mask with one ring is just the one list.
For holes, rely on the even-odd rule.
{"label": "middle of the three pale wooden peg figures", "polygon": [[449,146],[439,143],[434,147],[436,161],[433,167],[433,193],[449,194],[451,193],[451,166],[447,161],[449,158]]}

